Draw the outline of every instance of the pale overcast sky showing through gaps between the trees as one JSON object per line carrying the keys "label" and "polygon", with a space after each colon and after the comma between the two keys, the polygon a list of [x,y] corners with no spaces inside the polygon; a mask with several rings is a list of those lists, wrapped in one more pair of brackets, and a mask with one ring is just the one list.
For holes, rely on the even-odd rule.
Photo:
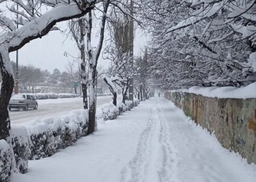
{"label": "pale overcast sky showing through gaps between the trees", "polygon": [[[58,26],[64,30],[67,28],[67,22],[62,22],[58,24]],[[93,38],[94,44],[98,40],[95,36],[96,35],[94,35]],[[55,68],[58,68],[60,71],[65,71],[68,61],[72,61],[73,58],[71,56],[64,56],[64,52],[67,51],[73,56],[78,55],[75,42],[73,42],[71,38],[65,39],[67,39],[67,35],[62,34],[60,31],[52,31],[42,39],[32,40],[30,43],[26,44],[26,46],[19,49],[19,64],[32,64],[41,69],[48,69],[50,72]],[[141,31],[138,31],[135,35],[134,42],[135,56],[142,55],[141,49],[146,46],[146,42],[147,37],[142,34]],[[102,50],[103,49],[104,47]],[[10,58],[12,61],[16,61],[16,52],[10,53]],[[77,65],[78,64],[79,63],[77,63]],[[104,68],[107,68],[109,61],[103,60],[101,56],[99,65],[103,65]]]}

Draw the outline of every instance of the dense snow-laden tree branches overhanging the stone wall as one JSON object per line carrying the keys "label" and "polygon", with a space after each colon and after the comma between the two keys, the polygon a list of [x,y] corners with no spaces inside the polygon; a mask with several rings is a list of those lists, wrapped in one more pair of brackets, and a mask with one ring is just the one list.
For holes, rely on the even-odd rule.
{"label": "dense snow-laden tree branches overhanging the stone wall", "polygon": [[255,1],[141,1],[152,76],[165,89],[256,80]]}

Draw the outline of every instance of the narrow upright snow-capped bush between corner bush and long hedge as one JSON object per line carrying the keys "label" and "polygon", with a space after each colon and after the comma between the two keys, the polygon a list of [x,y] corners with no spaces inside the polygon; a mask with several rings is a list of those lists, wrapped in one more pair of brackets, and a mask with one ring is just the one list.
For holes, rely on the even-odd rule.
{"label": "narrow upright snow-capped bush between corner bush and long hedge", "polygon": [[28,170],[28,158],[31,154],[28,131],[24,126],[12,126],[10,130],[11,146],[13,146],[16,167],[19,172]]}

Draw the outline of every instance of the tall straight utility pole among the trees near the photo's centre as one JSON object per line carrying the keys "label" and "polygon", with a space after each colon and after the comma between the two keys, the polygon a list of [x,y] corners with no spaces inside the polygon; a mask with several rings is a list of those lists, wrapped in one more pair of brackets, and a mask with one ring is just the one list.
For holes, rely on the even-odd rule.
{"label": "tall straight utility pole among the trees near the photo's centre", "polygon": [[[133,21],[133,0],[130,2],[130,26],[129,26],[129,32],[130,32],[130,50],[129,50],[129,56],[131,58],[131,68],[133,69],[133,47],[134,47],[134,21]],[[133,101],[133,77],[130,78],[130,85],[129,85],[129,100]]]}

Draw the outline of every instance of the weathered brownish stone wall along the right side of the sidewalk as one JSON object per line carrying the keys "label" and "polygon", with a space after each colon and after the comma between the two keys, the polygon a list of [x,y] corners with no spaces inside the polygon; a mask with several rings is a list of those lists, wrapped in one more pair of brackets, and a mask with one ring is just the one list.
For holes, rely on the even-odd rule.
{"label": "weathered brownish stone wall along the right side of the sidewalk", "polygon": [[165,92],[164,97],[214,132],[223,147],[256,164],[256,98],[210,98],[181,92]]}

